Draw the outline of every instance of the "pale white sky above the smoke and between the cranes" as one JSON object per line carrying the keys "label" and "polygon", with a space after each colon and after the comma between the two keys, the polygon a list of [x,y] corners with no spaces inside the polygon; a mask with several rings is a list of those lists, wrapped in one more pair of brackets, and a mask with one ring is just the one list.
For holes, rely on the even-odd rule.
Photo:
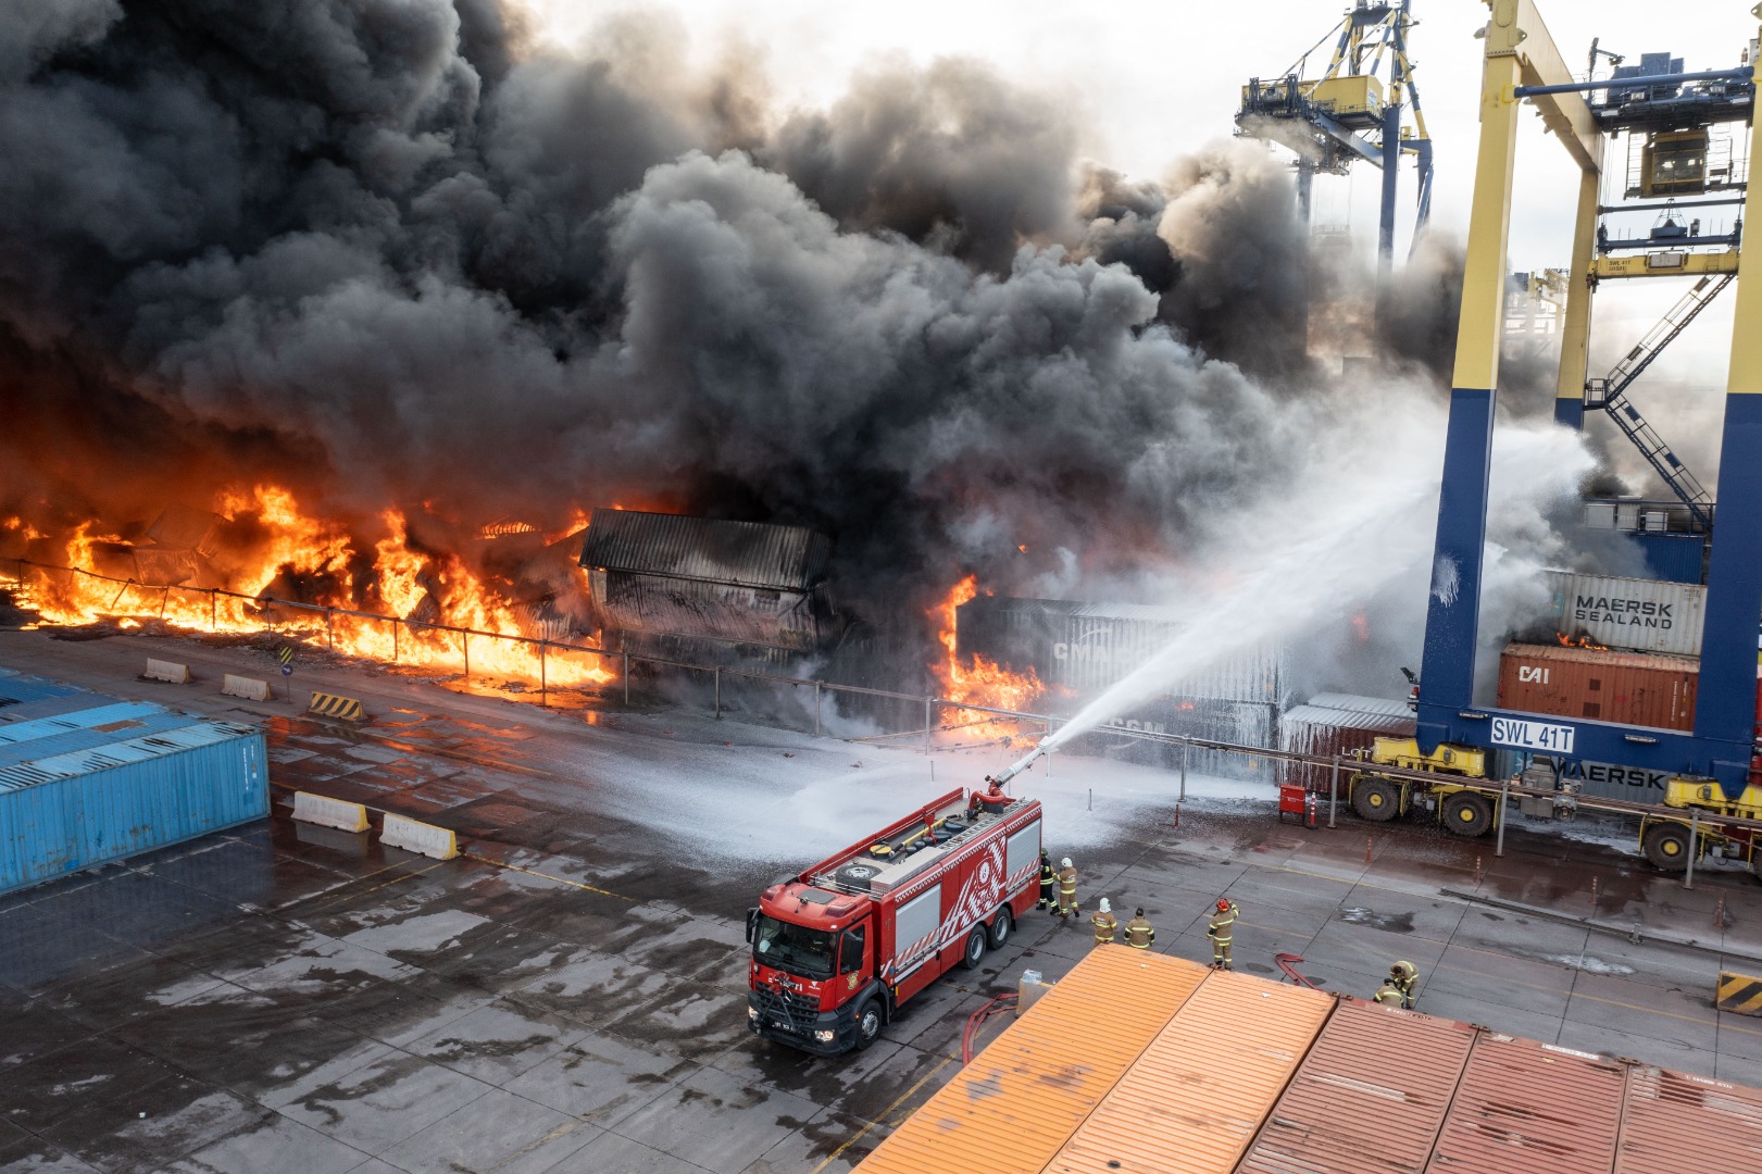
{"label": "pale white sky above the smoke and between the cranes", "polygon": [[[914,62],[973,56],[1003,74],[1061,95],[1085,115],[1085,152],[1135,178],[1158,178],[1168,162],[1233,129],[1240,85],[1277,76],[1322,41],[1343,0],[1260,0],[1255,5],[1115,0],[890,0],[848,5],[823,0],[530,0],[546,37],[571,44],[608,14],[661,9],[678,14],[694,53],[708,56],[729,37],[763,55],[781,106],[825,106],[853,71],[886,55]],[[1748,4],[1695,0],[1697,19],[1663,26],[1658,4],[1561,0],[1542,4],[1556,44],[1579,67],[1593,37],[1630,60],[1644,51],[1681,55],[1688,69],[1736,65],[1757,33]],[[1487,7],[1475,0],[1417,0],[1411,60],[1436,143],[1433,222],[1468,224],[1477,143],[1480,42]],[[1514,206],[1514,270],[1558,266],[1570,250],[1577,176],[1540,123],[1524,134]],[[1369,249],[1376,236],[1378,175],[1362,166],[1316,183],[1316,220],[1346,224]],[[1413,176],[1403,176],[1403,222],[1411,231]]]}

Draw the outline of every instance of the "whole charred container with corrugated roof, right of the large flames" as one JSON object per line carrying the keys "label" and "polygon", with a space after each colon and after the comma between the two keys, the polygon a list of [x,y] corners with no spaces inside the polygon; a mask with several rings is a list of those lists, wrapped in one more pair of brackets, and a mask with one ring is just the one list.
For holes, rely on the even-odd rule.
{"label": "whole charred container with corrugated roof, right of the large flames", "polygon": [[[832,543],[798,525],[596,509],[581,566],[608,633],[811,650],[835,635]],[[613,636],[611,643],[618,642]]]}

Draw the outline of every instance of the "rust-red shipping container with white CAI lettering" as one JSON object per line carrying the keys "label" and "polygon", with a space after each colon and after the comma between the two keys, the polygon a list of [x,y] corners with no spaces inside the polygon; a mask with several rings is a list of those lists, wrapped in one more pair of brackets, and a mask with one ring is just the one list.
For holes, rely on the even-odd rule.
{"label": "rust-red shipping container with white CAI lettering", "polygon": [[1700,663],[1600,649],[1512,643],[1499,656],[1499,709],[1692,730]]}

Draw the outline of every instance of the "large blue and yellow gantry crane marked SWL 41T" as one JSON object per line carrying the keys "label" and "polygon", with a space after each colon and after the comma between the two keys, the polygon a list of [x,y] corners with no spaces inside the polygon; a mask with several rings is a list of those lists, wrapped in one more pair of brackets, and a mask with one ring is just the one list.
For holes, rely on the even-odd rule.
{"label": "large blue and yellow gantry crane marked SWL 41T", "polygon": [[[1750,42],[1737,69],[1683,72],[1679,58],[1656,55],[1642,58],[1637,67],[1618,69],[1614,78],[1596,81],[1572,76],[1533,0],[1489,0],[1487,7],[1491,19],[1478,33],[1485,44],[1480,148],[1425,613],[1417,732],[1420,749],[1431,753],[1445,742],[1489,749],[1503,746],[1556,758],[1644,767],[1716,779],[1736,799],[1750,779],[1757,735],[1757,617],[1762,615],[1762,460],[1757,460],[1762,451],[1762,254],[1751,257],[1750,250],[1741,252],[1737,217],[1729,233],[1699,233],[1692,227],[1693,215],[1684,213],[1681,204],[1605,206],[1602,178],[1607,136],[1625,132],[1637,166],[1628,169],[1623,199],[1697,197],[1704,204],[1725,201],[1753,222],[1762,210],[1762,196],[1709,150],[1707,129],[1741,122],[1739,137],[1753,139],[1757,41]],[[1762,5],[1751,9],[1751,14],[1762,19]],[[1595,65],[1595,53],[1591,60]],[[1704,494],[1695,499],[1714,524],[1692,732],[1538,717],[1477,707],[1473,700],[1487,474],[1505,328],[1505,256],[1519,113],[1526,104],[1533,106],[1581,169],[1572,280],[1561,324],[1556,420],[1577,427],[1588,405],[1607,409],[1609,398],[1625,391],[1626,384],[1621,381],[1642,368],[1640,360],[1647,353],[1655,354],[1674,337],[1672,331],[1679,331],[1699,312],[1699,305],[1679,303],[1660,330],[1623,360],[1625,368],[1607,379],[1588,381],[1586,340],[1591,298],[1600,282],[1692,277],[1699,284],[1686,300],[1704,303],[1716,293],[1716,286],[1723,287],[1725,279],[1739,279],[1732,307],[1716,513]],[[1612,236],[1602,220],[1612,212],[1665,215],[1658,215],[1653,231],[1644,236],[1625,238]],[[1630,423],[1635,420],[1637,411]],[[1644,425],[1642,420],[1639,423]]]}

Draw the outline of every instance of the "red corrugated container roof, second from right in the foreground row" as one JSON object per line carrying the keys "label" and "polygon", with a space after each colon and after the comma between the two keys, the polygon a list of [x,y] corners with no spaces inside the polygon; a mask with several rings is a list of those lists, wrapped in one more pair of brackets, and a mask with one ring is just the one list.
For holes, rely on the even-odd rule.
{"label": "red corrugated container roof, second from right in the foreground row", "polygon": [[[1625,1072],[1598,1056],[1484,1033],[1425,1167],[1431,1174],[1609,1174]],[[1736,1169],[1736,1167],[1734,1167]]]}

